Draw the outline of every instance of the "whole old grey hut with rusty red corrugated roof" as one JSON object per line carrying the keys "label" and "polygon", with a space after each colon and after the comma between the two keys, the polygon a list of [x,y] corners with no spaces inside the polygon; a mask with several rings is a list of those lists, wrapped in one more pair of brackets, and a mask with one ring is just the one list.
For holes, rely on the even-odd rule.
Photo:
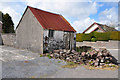
{"label": "whole old grey hut with rusty red corrugated roof", "polygon": [[16,28],[16,47],[39,53],[74,49],[75,32],[62,15],[27,6]]}

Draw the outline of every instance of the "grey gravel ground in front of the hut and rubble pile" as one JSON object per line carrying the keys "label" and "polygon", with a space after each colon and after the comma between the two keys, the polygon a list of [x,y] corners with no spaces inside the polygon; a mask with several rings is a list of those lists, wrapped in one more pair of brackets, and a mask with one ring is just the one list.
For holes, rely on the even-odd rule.
{"label": "grey gravel ground in front of the hut and rubble pile", "polygon": [[0,46],[0,54],[3,78],[118,78],[118,70],[88,70],[83,66],[62,68],[66,64],[64,61],[59,63],[60,60],[13,47]]}

